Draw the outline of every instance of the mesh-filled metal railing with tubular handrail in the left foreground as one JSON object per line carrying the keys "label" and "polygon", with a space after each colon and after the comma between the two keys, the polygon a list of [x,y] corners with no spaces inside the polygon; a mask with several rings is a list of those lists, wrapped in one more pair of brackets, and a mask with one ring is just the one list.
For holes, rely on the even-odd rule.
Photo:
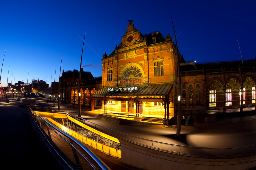
{"label": "mesh-filled metal railing with tubular handrail in the left foreground", "polygon": [[59,130],[32,109],[30,109],[30,113],[38,129],[40,129],[42,135],[52,147],[52,150],[59,155],[60,159],[63,160],[70,169],[109,170],[93,152],[77,139]]}

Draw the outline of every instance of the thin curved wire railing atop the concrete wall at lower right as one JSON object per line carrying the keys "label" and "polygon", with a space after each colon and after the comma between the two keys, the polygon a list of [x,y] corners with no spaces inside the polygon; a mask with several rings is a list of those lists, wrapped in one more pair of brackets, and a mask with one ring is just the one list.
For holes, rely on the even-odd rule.
{"label": "thin curved wire railing atop the concrete wall at lower right", "polygon": [[159,150],[163,152],[173,153],[177,155],[186,155],[191,157],[201,157],[201,158],[239,158],[245,156],[252,156],[256,154],[256,144],[243,146],[243,147],[229,147],[229,148],[209,148],[209,147],[192,147],[183,146],[177,144],[169,144],[163,142],[157,142],[149,139],[140,138],[137,136],[132,136],[129,134],[124,134],[115,131],[110,128],[89,122],[81,117],[70,114],[75,119],[79,120],[86,125],[102,131],[110,136],[118,139],[122,139],[127,142],[135,143],[144,147],[148,147],[154,150]]}

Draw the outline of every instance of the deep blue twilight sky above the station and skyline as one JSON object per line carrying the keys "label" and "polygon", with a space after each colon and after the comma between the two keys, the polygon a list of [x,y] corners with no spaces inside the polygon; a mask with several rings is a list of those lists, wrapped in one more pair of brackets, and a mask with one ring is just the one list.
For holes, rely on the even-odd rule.
{"label": "deep blue twilight sky above the station and skyline", "polygon": [[82,66],[102,76],[102,55],[121,43],[127,19],[142,34],[160,31],[174,39],[171,15],[186,61],[241,60],[238,42],[243,60],[255,59],[255,9],[252,0],[1,1],[1,85],[9,67],[8,83],[58,82],[62,54],[61,72],[79,70],[84,35]]}

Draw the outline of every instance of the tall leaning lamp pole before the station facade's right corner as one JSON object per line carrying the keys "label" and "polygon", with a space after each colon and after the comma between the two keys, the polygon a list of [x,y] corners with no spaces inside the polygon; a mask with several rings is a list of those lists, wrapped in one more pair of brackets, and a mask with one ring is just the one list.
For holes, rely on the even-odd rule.
{"label": "tall leaning lamp pole before the station facade's right corner", "polygon": [[[173,31],[174,31],[174,25],[171,18]],[[176,135],[180,136],[181,131],[181,120],[182,120],[182,99],[181,99],[181,77],[180,77],[180,67],[179,67],[179,51],[178,51],[178,45],[177,45],[177,37],[174,31],[174,37],[175,37],[175,43],[176,43],[176,52],[177,52],[177,63],[178,63],[178,77],[179,77],[179,96],[178,96],[178,115],[177,115],[177,132]]]}

